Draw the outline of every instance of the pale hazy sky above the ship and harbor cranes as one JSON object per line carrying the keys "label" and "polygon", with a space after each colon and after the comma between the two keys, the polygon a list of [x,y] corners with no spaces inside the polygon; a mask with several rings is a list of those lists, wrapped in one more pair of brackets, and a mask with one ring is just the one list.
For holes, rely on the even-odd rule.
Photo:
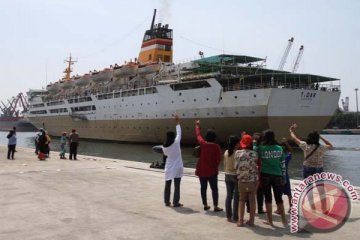
{"label": "pale hazy sky above the ship and harbor cranes", "polygon": [[154,9],[174,30],[175,62],[202,51],[267,57],[277,69],[294,37],[284,70],[304,45],[297,72],[341,79],[340,99],[356,111],[358,0],[0,0],[0,100],[59,80],[70,53],[74,74],[134,59]]}

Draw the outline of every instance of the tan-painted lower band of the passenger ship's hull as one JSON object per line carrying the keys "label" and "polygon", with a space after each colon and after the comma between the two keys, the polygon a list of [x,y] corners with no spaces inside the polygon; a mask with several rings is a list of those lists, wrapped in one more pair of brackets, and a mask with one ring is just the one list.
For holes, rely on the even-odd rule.
{"label": "tan-painted lower band of the passenger ship's hull", "polygon": [[[195,118],[182,119],[182,142],[193,144],[196,142],[194,123]],[[206,118],[201,119],[202,133],[205,135],[208,128],[214,129],[218,141],[226,143],[230,135],[240,135],[242,131],[248,133],[262,132],[271,128],[277,138],[289,138],[288,126],[296,122],[299,126],[299,136],[306,137],[310,131],[321,131],[329,122],[330,117],[324,116],[288,116],[288,117],[238,117],[238,118]],[[37,127],[44,127],[50,135],[60,136],[63,131],[70,132],[76,129],[82,139],[109,140],[119,142],[148,142],[161,143],[167,131],[175,131],[175,122],[169,119],[153,120],[122,120],[122,121],[74,121],[71,117],[50,117],[33,119]],[[314,125],[314,123],[316,123]]]}

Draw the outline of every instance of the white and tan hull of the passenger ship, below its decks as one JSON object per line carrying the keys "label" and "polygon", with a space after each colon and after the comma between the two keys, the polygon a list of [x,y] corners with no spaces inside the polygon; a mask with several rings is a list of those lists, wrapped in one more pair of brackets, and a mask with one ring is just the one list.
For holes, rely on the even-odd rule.
{"label": "white and tan hull of the passenger ship, below its decks", "polygon": [[183,143],[196,142],[194,123],[197,119],[201,121],[203,134],[208,128],[214,129],[222,143],[232,134],[269,128],[280,140],[289,138],[288,128],[292,123],[298,124],[302,138],[310,131],[321,131],[330,121],[340,96],[340,92],[277,88],[222,93],[216,81],[209,83],[211,89],[187,90],[177,95],[169,94],[169,89],[163,86],[157,94],[143,98],[102,100],[101,105],[96,105],[96,111],[82,116],[63,114],[29,119],[54,136],[75,128],[86,139],[161,143],[167,131],[174,131],[172,115],[178,114]]}

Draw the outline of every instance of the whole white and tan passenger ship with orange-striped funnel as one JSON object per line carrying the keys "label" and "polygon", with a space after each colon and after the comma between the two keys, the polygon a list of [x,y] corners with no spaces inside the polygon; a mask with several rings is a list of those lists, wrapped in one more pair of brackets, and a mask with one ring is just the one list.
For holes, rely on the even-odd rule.
{"label": "whole white and tan passenger ship with orange-striped funnel", "polygon": [[338,107],[338,79],[267,69],[260,58],[222,54],[173,64],[172,29],[154,24],[155,13],[138,59],[71,77],[70,57],[63,79],[28,91],[28,119],[53,136],[75,128],[81,138],[159,143],[178,114],[184,143],[196,141],[196,119],[226,142],[268,128],[288,137],[294,122],[304,137],[321,131]]}

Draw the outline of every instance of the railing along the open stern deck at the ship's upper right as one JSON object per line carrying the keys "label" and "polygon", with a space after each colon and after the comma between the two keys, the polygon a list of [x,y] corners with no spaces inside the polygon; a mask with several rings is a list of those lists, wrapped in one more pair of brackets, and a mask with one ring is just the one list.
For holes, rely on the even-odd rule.
{"label": "railing along the open stern deck at the ship's upper right", "polygon": [[334,84],[275,84],[275,83],[254,83],[254,84],[241,84],[232,83],[223,85],[223,91],[239,91],[251,89],[266,89],[266,88],[285,88],[285,89],[304,89],[304,90],[320,90],[324,92],[339,92],[340,85]]}

